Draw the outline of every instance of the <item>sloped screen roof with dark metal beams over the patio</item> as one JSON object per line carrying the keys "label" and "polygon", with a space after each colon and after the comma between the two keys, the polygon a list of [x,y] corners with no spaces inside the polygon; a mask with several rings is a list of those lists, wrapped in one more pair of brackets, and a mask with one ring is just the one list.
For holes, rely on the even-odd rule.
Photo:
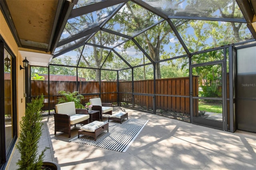
{"label": "sloped screen roof with dark metal beams over the patio", "polygon": [[235,0],[79,0],[51,63],[120,70],[250,39]]}

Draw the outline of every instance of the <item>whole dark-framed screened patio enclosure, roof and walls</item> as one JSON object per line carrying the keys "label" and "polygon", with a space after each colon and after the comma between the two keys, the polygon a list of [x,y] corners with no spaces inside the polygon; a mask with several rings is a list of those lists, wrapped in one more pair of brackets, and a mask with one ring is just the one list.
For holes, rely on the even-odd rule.
{"label": "whole dark-framed screened patio enclosure, roof and walls", "polygon": [[59,91],[78,91],[84,105],[101,97],[180,121],[256,132],[237,122],[237,54],[255,50],[255,40],[236,0],[73,3],[48,67],[30,67],[27,94],[43,94],[47,114]]}

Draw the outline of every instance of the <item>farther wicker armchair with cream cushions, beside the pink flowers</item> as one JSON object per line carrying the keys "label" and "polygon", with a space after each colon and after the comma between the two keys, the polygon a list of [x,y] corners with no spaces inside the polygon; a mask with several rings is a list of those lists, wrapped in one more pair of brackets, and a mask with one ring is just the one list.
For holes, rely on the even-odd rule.
{"label": "farther wicker armchair with cream cushions, beside the pink flowers", "polygon": [[112,115],[112,103],[102,103],[100,98],[90,99],[90,103],[92,103],[92,110],[100,111],[101,120],[103,114]]}

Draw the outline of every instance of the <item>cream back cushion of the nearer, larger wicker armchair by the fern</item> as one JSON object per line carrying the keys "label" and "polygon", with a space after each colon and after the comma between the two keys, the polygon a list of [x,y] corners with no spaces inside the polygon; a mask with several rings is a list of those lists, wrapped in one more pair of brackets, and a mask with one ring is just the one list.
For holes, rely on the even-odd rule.
{"label": "cream back cushion of the nearer, larger wicker armchair by the fern", "polygon": [[74,101],[60,103],[55,106],[56,106],[56,113],[58,114],[68,114],[70,116],[76,115],[76,107],[75,107]]}

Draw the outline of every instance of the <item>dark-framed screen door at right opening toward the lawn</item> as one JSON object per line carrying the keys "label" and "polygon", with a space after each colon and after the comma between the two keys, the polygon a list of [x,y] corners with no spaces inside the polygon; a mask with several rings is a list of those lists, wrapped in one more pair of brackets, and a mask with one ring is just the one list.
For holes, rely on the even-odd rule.
{"label": "dark-framed screen door at right opening toward the lawn", "polygon": [[192,123],[224,129],[223,62],[192,65]]}

